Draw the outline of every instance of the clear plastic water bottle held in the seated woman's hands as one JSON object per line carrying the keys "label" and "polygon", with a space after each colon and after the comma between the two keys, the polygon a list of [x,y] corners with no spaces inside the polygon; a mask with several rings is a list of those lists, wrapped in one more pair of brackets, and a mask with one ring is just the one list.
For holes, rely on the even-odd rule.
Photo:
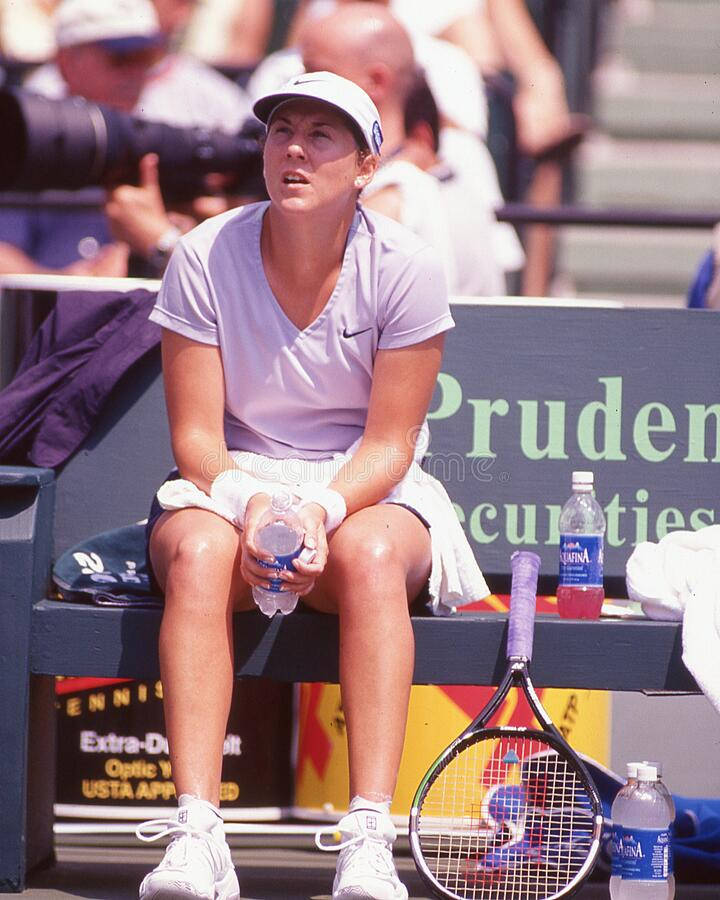
{"label": "clear plastic water bottle held in the seated woman's hands", "polygon": [[270,508],[263,514],[255,533],[257,546],[275,557],[275,562],[272,563],[258,560],[261,566],[271,570],[268,572],[270,589],[258,585],[254,585],[252,589],[253,600],[266,616],[272,617],[276,612],[287,615],[297,605],[298,595],[292,591],[282,590],[285,582],[281,578],[273,578],[272,570],[294,571],[292,561],[302,552],[304,536],[298,514],[293,509],[292,495],[289,491],[277,491],[273,494]]}

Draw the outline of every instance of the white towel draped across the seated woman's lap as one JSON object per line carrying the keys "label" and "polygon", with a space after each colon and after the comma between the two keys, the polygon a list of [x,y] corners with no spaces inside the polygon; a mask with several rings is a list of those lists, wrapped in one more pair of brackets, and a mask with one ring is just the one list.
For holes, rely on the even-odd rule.
{"label": "white towel draped across the seated woman's lap", "polygon": [[[292,488],[308,483],[329,484],[358,445],[359,441],[346,453],[324,460],[271,459],[247,451],[231,451],[230,455],[236,465],[251,472],[255,478],[282,482]],[[166,481],[157,497],[163,509],[200,507],[239,525],[232,510],[185,479]],[[408,506],[430,526],[432,568],[428,592],[433,613],[449,615],[458,606],[481,600],[490,593],[445,488],[417,462],[380,502]]]}

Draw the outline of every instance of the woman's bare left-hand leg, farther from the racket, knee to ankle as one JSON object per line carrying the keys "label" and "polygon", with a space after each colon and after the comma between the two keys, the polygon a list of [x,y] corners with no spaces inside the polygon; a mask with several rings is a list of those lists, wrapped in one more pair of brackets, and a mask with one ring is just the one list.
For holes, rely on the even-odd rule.
{"label": "woman's bare left-hand leg, farther from the racket, knee to ankle", "polygon": [[175,789],[218,805],[233,690],[233,600],[246,605],[248,596],[239,533],[213,513],[178,510],[153,529],[150,555],[165,591],[160,674]]}

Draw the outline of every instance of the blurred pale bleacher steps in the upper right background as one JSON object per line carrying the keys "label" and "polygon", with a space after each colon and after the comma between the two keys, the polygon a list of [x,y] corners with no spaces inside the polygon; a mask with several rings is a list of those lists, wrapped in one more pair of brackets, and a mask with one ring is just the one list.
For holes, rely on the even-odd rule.
{"label": "blurred pale bleacher steps in the upper right background", "polygon": [[[720,0],[617,0],[608,26],[575,201],[720,219]],[[709,228],[563,228],[557,282],[580,298],[684,306],[710,241]]]}

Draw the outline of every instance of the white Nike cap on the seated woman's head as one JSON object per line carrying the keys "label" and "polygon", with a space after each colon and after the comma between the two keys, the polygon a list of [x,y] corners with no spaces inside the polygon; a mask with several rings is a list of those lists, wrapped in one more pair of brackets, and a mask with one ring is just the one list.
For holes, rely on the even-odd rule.
{"label": "white Nike cap on the seated woman's head", "polygon": [[278,91],[260,97],[253,107],[253,112],[261,122],[267,124],[281,103],[301,98],[320,100],[334,106],[357,125],[368,148],[373,153],[380,153],[382,130],[377,107],[354,81],[334,75],[332,72],[306,72],[296,75]]}

